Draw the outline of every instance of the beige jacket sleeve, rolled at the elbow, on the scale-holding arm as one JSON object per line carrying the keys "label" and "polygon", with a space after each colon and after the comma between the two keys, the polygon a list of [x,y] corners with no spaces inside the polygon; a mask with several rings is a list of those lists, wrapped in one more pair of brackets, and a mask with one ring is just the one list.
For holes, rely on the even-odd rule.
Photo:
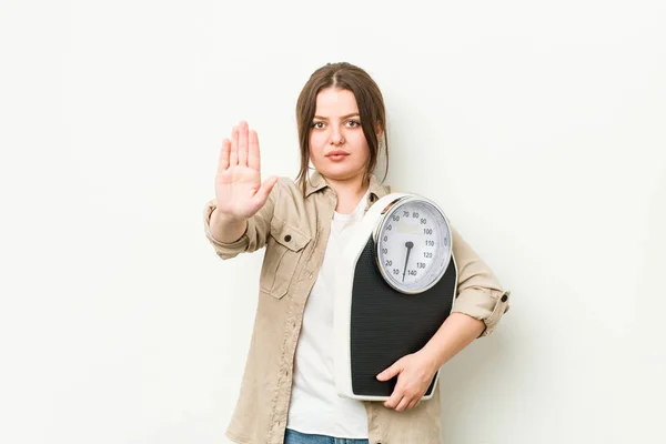
{"label": "beige jacket sleeve, rolled at the elbow, on the scale-holding arm", "polygon": [[502,289],[493,271],[454,228],[452,235],[453,255],[458,272],[452,313],[464,313],[483,321],[485,330],[480,337],[487,336],[508,310],[511,291]]}

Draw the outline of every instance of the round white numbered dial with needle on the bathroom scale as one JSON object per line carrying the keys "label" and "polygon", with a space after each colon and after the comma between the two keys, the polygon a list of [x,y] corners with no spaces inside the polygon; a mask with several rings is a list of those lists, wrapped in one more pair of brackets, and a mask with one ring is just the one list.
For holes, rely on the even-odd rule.
{"label": "round white numbered dial with needle on the bathroom scale", "polygon": [[405,196],[383,214],[374,233],[377,265],[393,289],[417,294],[434,286],[452,256],[444,212],[422,196]]}

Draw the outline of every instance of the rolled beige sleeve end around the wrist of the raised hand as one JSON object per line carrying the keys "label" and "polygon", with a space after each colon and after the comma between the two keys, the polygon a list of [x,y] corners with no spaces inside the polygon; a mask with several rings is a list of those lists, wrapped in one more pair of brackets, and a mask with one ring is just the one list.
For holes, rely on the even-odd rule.
{"label": "rolled beige sleeve end around the wrist of the raised hand", "polygon": [[280,199],[280,192],[283,186],[282,182],[283,178],[280,178],[273,190],[271,190],[266,203],[252,218],[248,219],[248,229],[243,235],[232,243],[220,242],[212,236],[210,225],[211,214],[218,204],[214,199],[206,203],[203,210],[204,234],[220,258],[223,260],[232,259],[239,253],[251,253],[262,249],[266,244],[271,234],[271,220],[273,219],[275,203]]}

